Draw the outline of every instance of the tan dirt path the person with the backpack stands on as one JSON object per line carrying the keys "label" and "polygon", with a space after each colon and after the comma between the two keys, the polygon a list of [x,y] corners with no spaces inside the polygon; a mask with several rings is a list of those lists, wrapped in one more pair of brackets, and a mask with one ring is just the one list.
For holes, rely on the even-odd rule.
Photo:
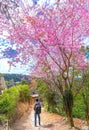
{"label": "tan dirt path the person with the backpack stands on", "polygon": [[[79,119],[74,119],[74,122],[75,126],[82,130],[83,122]],[[41,126],[35,127],[34,111],[30,110],[14,124],[13,130],[70,130],[70,127],[62,116],[44,111],[41,113]],[[71,130],[79,129],[72,128]]]}

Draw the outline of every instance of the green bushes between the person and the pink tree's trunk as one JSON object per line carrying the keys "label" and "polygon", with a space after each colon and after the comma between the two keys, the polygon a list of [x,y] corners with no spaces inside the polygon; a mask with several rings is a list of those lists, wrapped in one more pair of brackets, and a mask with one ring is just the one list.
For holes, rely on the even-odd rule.
{"label": "green bushes between the person and the pink tree's trunk", "polygon": [[[36,90],[40,94],[40,98],[43,100],[44,108],[49,112],[62,114],[62,99],[58,94],[47,87],[47,84],[39,79],[37,82]],[[59,107],[60,106],[60,107]]]}

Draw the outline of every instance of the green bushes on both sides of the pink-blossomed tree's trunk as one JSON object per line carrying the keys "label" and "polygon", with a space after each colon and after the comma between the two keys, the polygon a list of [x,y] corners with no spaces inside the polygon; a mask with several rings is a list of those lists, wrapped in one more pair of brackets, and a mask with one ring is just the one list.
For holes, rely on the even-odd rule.
{"label": "green bushes on both sides of the pink-blossomed tree's trunk", "polygon": [[[86,79],[88,78],[86,75]],[[61,114],[65,116],[63,98],[62,95],[58,95],[56,91],[52,91],[51,88],[47,87],[47,84],[39,79],[36,87],[38,93],[40,93],[40,98],[43,99],[44,108],[46,111]],[[73,90],[74,91],[74,90]],[[71,100],[71,97],[70,97]],[[76,94],[73,102],[73,112],[72,115],[74,118],[80,118],[89,123],[89,81],[88,79],[80,91]]]}

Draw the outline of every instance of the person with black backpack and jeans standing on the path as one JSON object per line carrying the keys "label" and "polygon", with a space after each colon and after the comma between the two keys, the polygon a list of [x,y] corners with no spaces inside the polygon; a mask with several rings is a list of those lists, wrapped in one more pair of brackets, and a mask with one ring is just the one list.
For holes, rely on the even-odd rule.
{"label": "person with black backpack and jeans standing on the path", "polygon": [[40,113],[41,113],[41,104],[38,99],[36,99],[35,105],[34,105],[34,111],[35,111],[35,126],[37,124],[37,117],[38,117],[38,122],[40,125]]}

